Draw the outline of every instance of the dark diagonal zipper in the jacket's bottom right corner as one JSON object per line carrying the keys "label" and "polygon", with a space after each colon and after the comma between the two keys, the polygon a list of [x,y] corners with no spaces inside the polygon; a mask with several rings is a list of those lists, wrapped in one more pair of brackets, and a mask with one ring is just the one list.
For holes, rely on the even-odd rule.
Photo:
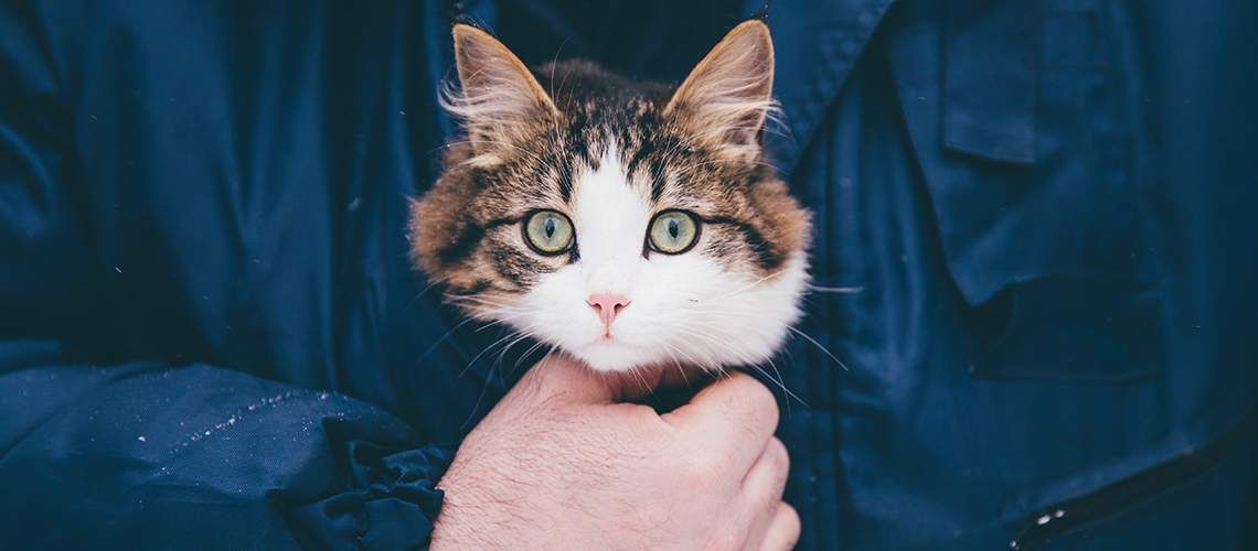
{"label": "dark diagonal zipper in the jacket's bottom right corner", "polygon": [[1252,413],[1247,414],[1224,436],[1200,448],[1040,511],[1009,542],[1009,548],[1027,551],[1040,547],[1071,530],[1117,515],[1130,506],[1204,474],[1232,451],[1233,444],[1250,432],[1252,418]]}

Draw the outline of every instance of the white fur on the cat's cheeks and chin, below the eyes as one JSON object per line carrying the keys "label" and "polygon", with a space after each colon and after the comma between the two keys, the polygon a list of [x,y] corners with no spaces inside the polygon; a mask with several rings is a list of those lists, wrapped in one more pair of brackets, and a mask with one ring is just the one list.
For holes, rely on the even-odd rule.
{"label": "white fur on the cat's cheeks and chin, below the eyes", "polygon": [[635,272],[626,289],[632,304],[616,318],[611,340],[585,304],[590,286],[580,265],[542,276],[521,299],[527,314],[508,323],[600,372],[755,365],[781,345],[808,286],[803,254],[762,280],[697,254],[653,255]]}

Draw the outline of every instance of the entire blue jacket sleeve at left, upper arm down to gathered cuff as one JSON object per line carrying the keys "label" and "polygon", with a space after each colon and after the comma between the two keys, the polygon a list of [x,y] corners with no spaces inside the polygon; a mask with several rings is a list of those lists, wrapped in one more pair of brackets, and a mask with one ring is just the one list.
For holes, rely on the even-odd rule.
{"label": "entire blue jacket sleeve at left, upper arm down to gathered cuff", "polygon": [[0,8],[0,547],[424,546],[450,447],[342,395],[84,354],[109,291],[74,191],[73,36],[48,38],[74,31],[42,5]]}

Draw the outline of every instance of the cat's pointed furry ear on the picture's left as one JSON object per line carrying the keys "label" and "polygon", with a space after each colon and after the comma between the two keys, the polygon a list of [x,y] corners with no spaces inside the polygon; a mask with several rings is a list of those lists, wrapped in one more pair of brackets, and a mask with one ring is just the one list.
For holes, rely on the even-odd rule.
{"label": "cat's pointed furry ear on the picture's left", "polygon": [[478,157],[497,157],[540,120],[559,114],[533,74],[498,39],[462,23],[453,34],[460,89],[443,103],[463,119]]}

